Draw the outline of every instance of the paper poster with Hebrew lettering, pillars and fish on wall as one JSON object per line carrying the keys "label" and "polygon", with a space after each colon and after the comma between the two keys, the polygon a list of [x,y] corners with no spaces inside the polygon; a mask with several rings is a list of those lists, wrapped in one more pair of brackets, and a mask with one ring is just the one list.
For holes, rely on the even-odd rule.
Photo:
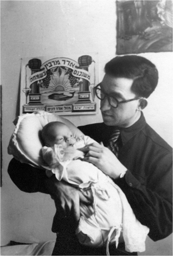
{"label": "paper poster with Hebrew lettering, pillars and fish on wall", "polygon": [[22,59],[20,114],[97,114],[96,66],[97,54]]}

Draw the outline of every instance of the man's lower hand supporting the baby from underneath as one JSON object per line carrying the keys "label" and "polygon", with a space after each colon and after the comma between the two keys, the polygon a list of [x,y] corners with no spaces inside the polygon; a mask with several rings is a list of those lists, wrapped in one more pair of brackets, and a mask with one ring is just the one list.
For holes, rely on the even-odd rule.
{"label": "man's lower hand supporting the baby from underneath", "polygon": [[55,201],[59,218],[71,217],[77,223],[80,219],[80,203],[90,205],[88,193],[70,186],[67,182],[58,181],[52,175],[45,181],[46,188]]}

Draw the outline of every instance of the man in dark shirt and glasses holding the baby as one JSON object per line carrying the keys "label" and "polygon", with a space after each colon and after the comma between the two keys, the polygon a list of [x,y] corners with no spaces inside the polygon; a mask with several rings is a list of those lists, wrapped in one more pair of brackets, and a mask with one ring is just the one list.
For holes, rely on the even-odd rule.
{"label": "man in dark shirt and glasses holding the baby", "polygon": [[[79,127],[100,143],[82,149],[86,153],[84,160],[114,180],[124,191],[136,218],[150,228],[150,238],[158,241],[172,233],[172,149],[146,124],[142,113],[146,98],[157,86],[158,71],[149,60],[127,55],[109,61],[105,73],[95,88],[101,99],[103,123]],[[110,138],[115,132],[119,137],[114,143]],[[27,169],[24,175],[23,168]],[[54,176],[48,179],[39,169],[15,159],[8,173],[21,190],[48,193],[55,200],[57,212],[52,230],[57,233],[57,242],[53,255],[106,254],[105,247],[82,246],[75,237],[79,204],[90,204],[87,192],[58,182]],[[111,255],[137,255],[126,252],[124,243],[117,249],[110,245],[109,251]]]}

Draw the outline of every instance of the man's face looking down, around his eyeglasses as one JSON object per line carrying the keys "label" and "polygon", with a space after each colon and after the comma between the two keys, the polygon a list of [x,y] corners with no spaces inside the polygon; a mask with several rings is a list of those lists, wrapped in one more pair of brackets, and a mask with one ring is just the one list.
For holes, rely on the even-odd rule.
{"label": "man's face looking down, around his eyeglasses", "polygon": [[[128,78],[116,78],[105,75],[100,89],[106,94],[111,95],[118,101],[136,98],[134,92],[131,91],[133,80]],[[110,106],[108,98],[101,100],[100,110],[103,122],[110,126],[128,127],[139,119],[141,112],[139,111],[139,100],[120,103],[117,108]]]}

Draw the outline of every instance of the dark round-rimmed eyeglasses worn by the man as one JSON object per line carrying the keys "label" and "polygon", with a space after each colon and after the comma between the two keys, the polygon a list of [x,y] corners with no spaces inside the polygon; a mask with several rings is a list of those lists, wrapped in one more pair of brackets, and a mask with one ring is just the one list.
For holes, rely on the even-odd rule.
{"label": "dark round-rimmed eyeglasses worn by the man", "polygon": [[129,101],[133,101],[133,100],[138,100],[141,99],[142,97],[137,97],[137,98],[133,98],[130,100],[122,100],[122,101],[118,101],[116,98],[114,98],[113,96],[103,92],[100,88],[99,88],[100,84],[98,84],[96,87],[94,87],[94,91],[96,92],[96,96],[97,98],[99,98],[100,100],[104,100],[106,97],[108,98],[109,104],[111,107],[113,108],[117,108],[118,105],[120,103],[126,103]]}

